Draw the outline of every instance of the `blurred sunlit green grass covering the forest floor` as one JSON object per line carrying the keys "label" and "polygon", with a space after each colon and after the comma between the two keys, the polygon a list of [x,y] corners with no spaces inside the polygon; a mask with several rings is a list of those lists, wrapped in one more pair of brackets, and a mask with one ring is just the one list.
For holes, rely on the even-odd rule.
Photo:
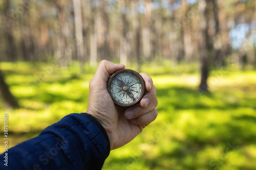
{"label": "blurred sunlit green grass covering the forest floor", "polygon": [[[255,169],[256,71],[211,71],[210,92],[200,93],[196,65],[168,64],[142,66],[157,87],[158,117],[132,142],[111,151],[103,169]],[[76,65],[53,67],[45,74],[47,66],[0,63],[21,106],[0,108],[1,115],[9,114],[11,146],[87,109],[95,68],[86,66],[80,75]]]}

